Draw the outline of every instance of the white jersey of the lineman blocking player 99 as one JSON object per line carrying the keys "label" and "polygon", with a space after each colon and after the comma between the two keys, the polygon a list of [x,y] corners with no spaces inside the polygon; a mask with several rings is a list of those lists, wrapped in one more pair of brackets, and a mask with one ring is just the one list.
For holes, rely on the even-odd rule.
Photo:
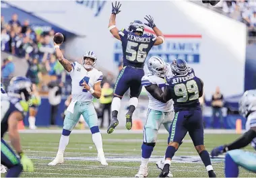
{"label": "white jersey of the lineman blocking player 99", "polygon": [[[164,91],[165,80],[156,75],[148,74],[148,75],[144,75],[142,77],[141,84],[144,87],[152,85],[152,84],[156,84],[156,85],[158,85],[158,87],[160,87],[160,89],[162,89],[162,91]],[[170,99],[170,101],[168,101],[167,103],[162,103],[162,102],[158,101],[157,99],[155,99],[154,97],[152,97],[152,95],[147,90],[146,90],[146,92],[148,94],[148,98],[150,99],[150,101],[148,103],[148,108],[154,109],[154,110],[160,111],[160,112],[171,112],[173,110],[172,99]]]}

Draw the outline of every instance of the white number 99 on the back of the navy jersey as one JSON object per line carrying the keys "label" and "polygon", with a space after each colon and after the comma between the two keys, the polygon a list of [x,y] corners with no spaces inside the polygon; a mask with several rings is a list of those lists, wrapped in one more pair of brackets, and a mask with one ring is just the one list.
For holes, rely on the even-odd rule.
{"label": "white number 99 on the back of the navy jersey", "polygon": [[[186,85],[184,83],[174,85],[174,93],[180,97],[177,99],[177,102],[180,103],[186,102],[188,99],[191,101],[199,98],[197,83],[194,80],[187,81]],[[190,97],[189,93],[191,93]]]}

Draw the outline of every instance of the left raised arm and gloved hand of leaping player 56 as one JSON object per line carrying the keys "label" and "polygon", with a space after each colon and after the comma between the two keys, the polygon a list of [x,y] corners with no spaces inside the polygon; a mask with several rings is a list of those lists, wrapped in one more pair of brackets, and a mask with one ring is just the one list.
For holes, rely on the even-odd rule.
{"label": "left raised arm and gloved hand of leaping player 56", "polygon": [[113,36],[117,38],[117,40],[121,40],[119,36],[119,30],[116,27],[116,15],[117,13],[121,12],[119,10],[120,7],[121,7],[120,2],[117,4],[117,1],[116,1],[115,5],[112,3],[112,13],[110,15],[109,23],[108,23],[108,30],[110,30],[110,33],[113,34]]}

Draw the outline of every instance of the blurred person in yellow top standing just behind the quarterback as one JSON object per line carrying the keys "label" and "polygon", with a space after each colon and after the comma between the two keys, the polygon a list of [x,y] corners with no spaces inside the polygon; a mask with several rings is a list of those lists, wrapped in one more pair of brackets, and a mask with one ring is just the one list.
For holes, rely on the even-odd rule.
{"label": "blurred person in yellow top standing just behind the quarterback", "polygon": [[100,97],[100,108],[102,109],[102,122],[100,124],[100,128],[103,128],[104,124],[104,111],[106,110],[108,112],[108,125],[110,124],[110,108],[111,103],[113,100],[113,93],[114,90],[110,88],[109,83],[104,83],[101,91],[101,97]]}

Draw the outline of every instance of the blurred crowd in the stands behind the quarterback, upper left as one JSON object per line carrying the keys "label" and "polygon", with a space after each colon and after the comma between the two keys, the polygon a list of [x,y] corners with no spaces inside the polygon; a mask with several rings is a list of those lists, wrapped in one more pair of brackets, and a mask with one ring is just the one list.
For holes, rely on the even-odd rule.
{"label": "blurred crowd in the stands behind the quarterback, upper left", "polygon": [[[57,81],[55,83],[65,83],[63,94],[69,95],[71,78],[55,56],[54,34],[54,30],[49,32],[43,32],[40,28],[33,30],[30,27],[30,20],[19,21],[17,14],[13,14],[10,21],[5,21],[5,17],[1,16],[1,51],[26,59],[28,62],[26,76],[38,85],[42,94],[48,93],[49,83]],[[1,82],[5,89],[13,77],[13,72],[18,70],[15,67],[17,65],[13,64],[11,56],[1,62]],[[103,82],[105,81],[113,85],[113,75],[104,73]]]}

